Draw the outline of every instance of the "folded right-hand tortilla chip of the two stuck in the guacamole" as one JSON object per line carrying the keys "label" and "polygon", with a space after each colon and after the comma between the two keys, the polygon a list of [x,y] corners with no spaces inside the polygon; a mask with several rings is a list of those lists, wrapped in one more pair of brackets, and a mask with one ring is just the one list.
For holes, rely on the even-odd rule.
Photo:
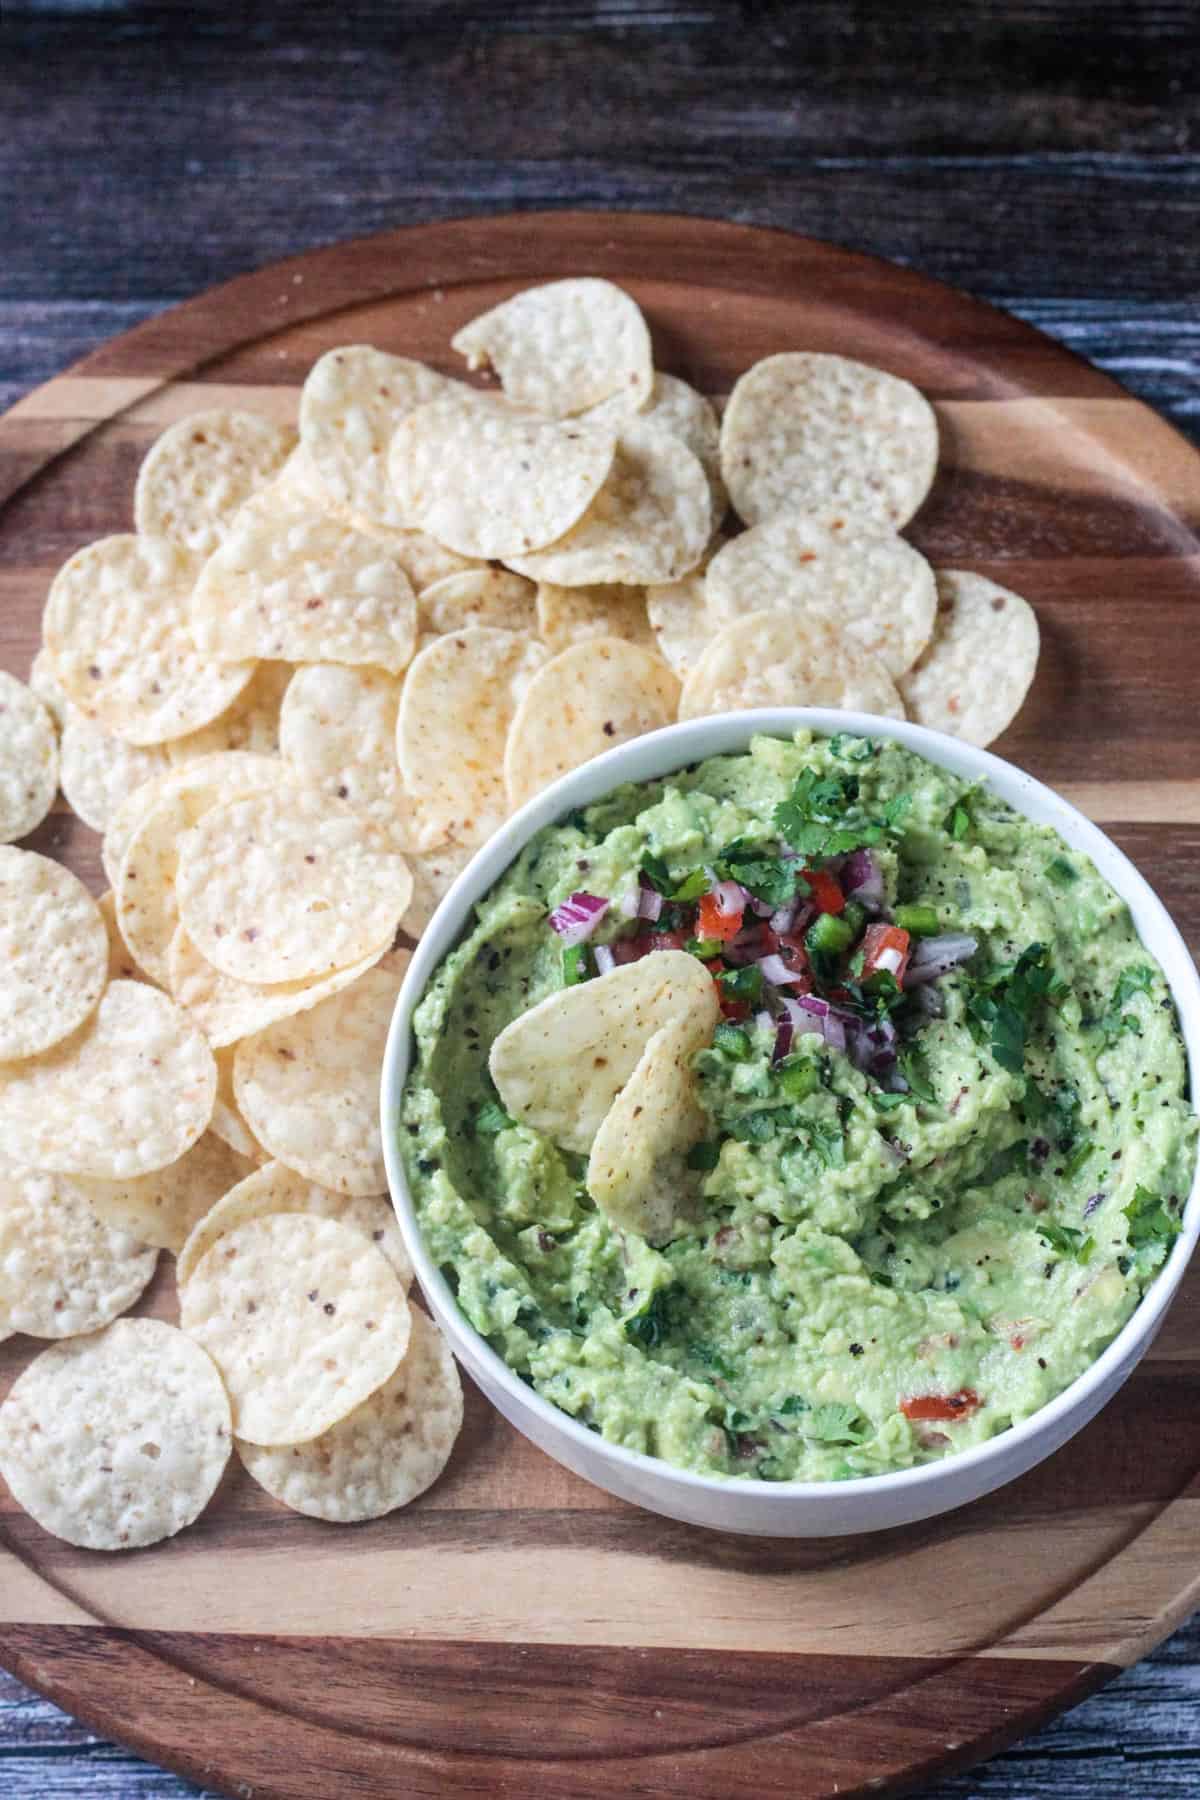
{"label": "folded right-hand tortilla chip of the two stuck in the guacamole", "polygon": [[700,1197],[687,1152],[707,1130],[691,1058],[712,1037],[703,1015],[655,1031],[633,1075],[601,1121],[588,1156],[587,1190],[621,1231],[662,1244]]}

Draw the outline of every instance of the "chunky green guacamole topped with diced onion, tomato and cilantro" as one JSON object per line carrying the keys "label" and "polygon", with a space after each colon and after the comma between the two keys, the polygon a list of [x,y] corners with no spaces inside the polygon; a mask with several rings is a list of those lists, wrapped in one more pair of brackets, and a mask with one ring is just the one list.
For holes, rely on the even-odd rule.
{"label": "chunky green guacamole topped with diced onion, tomato and cilantro", "polygon": [[[721,1017],[651,1244],[488,1057],[658,949]],[[464,1316],[554,1406],[707,1476],[882,1474],[1027,1418],[1130,1318],[1193,1181],[1123,900],[986,787],[851,734],[759,736],[540,832],[414,1024],[401,1148]]]}

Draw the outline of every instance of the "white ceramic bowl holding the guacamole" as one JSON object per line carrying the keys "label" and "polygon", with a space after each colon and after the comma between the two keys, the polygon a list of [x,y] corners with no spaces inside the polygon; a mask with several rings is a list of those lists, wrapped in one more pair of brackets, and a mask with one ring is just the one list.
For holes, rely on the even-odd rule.
{"label": "white ceramic bowl holding the guacamole", "polygon": [[648,781],[705,756],[743,751],[756,733],[792,736],[799,725],[810,725],[819,733],[853,731],[903,743],[954,774],[986,779],[990,788],[1016,812],[1040,824],[1051,824],[1067,844],[1088,855],[1126,902],[1142,943],[1166,974],[1178,1008],[1191,1098],[1193,1105],[1196,1103],[1200,1071],[1196,968],[1162,902],[1097,826],[1033,776],[955,738],[865,713],[788,707],[698,718],[608,751],[522,806],[479,851],[434,914],[396,1003],[383,1058],[383,1152],[399,1226],[430,1309],[455,1355],[518,1431],[597,1487],[667,1517],[756,1535],[835,1537],[909,1525],[948,1512],[1024,1474],[1074,1436],[1126,1381],[1162,1323],[1200,1235],[1200,1179],[1193,1183],[1187,1199],[1184,1229],[1137,1312],[1103,1355],[1033,1418],[975,1449],[963,1451],[961,1456],[921,1469],[853,1481],[739,1481],[689,1474],[655,1456],[606,1444],[513,1373],[459,1312],[450,1287],[432,1262],[416,1222],[398,1147],[399,1098],[410,1064],[414,1006],[443,958],[462,936],[475,902],[504,875],[534,832],[576,806],[587,806],[622,781]]}

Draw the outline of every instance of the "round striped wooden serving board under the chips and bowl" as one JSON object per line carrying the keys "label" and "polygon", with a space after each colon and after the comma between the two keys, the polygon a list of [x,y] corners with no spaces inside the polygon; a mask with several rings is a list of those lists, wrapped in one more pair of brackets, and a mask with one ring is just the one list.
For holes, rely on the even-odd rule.
{"label": "round striped wooden serving board under the chips and bowl", "polygon": [[[414,227],[234,281],[0,419],[0,664],[56,565],[130,529],[137,461],[221,400],[293,418],[311,360],[450,337],[531,281],[601,274],[714,394],[756,356],[844,351],[937,403],[910,535],[1011,581],[1043,657],[999,749],[1133,855],[1195,945],[1200,457],[1033,329],[901,268],[702,220]],[[32,839],[99,886],[67,814]],[[164,1258],[164,1264],[167,1258]],[[340,1530],[230,1474],[180,1539],[99,1557],[0,1501],[0,1656],[97,1730],[230,1795],[900,1793],[990,1755],[1196,1604],[1200,1278],[1124,1391],[1042,1469],[948,1519],[824,1543],[721,1537],[587,1487],[477,1393],[446,1476]],[[173,1316],[169,1276],[151,1309]],[[0,1348],[0,1379],[31,1345]]]}

